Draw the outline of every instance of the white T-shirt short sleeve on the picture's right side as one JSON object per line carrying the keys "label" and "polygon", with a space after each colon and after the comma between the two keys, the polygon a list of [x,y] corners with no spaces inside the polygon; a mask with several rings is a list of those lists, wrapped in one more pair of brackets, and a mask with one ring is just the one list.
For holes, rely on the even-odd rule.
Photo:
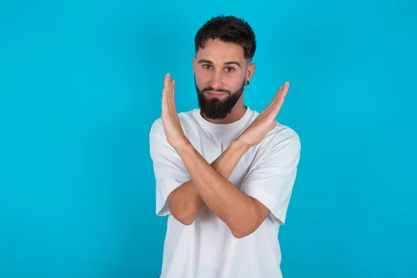
{"label": "white T-shirt short sleeve on the picture's right side", "polygon": [[241,190],[259,200],[284,224],[300,161],[300,138],[292,129],[271,139],[243,181]]}

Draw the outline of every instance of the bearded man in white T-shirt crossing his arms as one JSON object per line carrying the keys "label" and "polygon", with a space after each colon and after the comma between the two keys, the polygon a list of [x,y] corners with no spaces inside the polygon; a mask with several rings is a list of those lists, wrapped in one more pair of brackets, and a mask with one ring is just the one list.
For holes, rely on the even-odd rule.
{"label": "bearded man in white T-shirt crossing his arms", "polygon": [[243,104],[256,49],[243,19],[212,18],[195,49],[199,108],[177,113],[166,74],[149,134],[156,214],[169,215],[161,277],[282,277],[278,230],[300,159],[297,133],[275,120],[289,84],[261,113]]}

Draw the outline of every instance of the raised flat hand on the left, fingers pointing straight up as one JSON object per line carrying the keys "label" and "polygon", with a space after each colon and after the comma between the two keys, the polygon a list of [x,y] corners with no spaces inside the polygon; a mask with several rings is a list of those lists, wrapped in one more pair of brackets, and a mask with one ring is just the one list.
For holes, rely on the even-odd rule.
{"label": "raised flat hand on the left, fingers pointing straight up", "polygon": [[175,81],[170,79],[170,74],[165,75],[162,91],[162,122],[168,143],[178,149],[188,143],[179,122],[177,109],[175,108]]}

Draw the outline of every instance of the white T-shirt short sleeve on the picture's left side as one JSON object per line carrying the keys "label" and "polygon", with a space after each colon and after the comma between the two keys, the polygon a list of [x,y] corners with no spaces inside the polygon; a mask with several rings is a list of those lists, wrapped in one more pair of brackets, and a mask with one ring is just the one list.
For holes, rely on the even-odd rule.
{"label": "white T-shirt short sleeve on the picture's left side", "polygon": [[152,124],[149,153],[156,181],[156,215],[170,214],[167,197],[175,188],[190,180],[190,175],[177,151],[167,142],[161,118]]}

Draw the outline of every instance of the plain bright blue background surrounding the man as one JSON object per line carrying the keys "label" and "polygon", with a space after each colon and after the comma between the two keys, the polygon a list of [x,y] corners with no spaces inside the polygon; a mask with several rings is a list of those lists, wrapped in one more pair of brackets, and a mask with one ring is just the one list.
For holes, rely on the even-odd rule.
{"label": "plain bright blue background surrounding the man", "polygon": [[302,140],[284,277],[417,277],[415,1],[1,1],[0,277],[158,277],[149,129],[165,72],[197,106],[194,35],[256,33],[245,103],[291,88]]}

